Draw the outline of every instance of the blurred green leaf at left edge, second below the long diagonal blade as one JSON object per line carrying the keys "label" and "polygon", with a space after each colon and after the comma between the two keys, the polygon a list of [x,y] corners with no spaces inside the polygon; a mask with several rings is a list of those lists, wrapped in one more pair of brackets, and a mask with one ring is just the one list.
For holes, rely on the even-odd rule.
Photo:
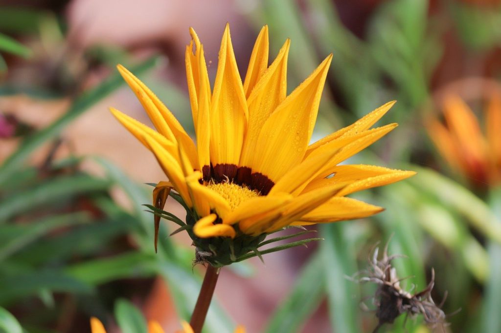
{"label": "blurred green leaf at left edge, second below the long diagonal blade", "polygon": [[[78,212],[59,216],[49,216],[28,225],[0,225],[0,261],[54,229],[65,225],[75,226],[89,221],[89,214]],[[6,230],[7,228],[14,228],[13,231],[16,231],[15,235],[13,235],[12,232],[8,232],[8,230]],[[11,234],[9,238],[5,239],[5,235],[8,233]]]}

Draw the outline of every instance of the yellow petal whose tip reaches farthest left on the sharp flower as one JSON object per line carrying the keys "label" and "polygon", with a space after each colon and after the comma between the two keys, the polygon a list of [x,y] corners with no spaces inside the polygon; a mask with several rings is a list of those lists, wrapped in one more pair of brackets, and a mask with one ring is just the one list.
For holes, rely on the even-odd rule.
{"label": "yellow petal whose tip reaches farthest left on the sharp flower", "polygon": [[175,141],[169,141],[159,132],[151,129],[145,124],[140,123],[127,114],[120,112],[114,107],[110,107],[110,111],[115,116],[115,118],[117,118],[117,120],[120,121],[122,125],[127,128],[147,148],[149,148],[149,146],[146,143],[145,137],[149,136],[153,140],[157,141],[170,154],[177,156],[177,144],[175,143]]}

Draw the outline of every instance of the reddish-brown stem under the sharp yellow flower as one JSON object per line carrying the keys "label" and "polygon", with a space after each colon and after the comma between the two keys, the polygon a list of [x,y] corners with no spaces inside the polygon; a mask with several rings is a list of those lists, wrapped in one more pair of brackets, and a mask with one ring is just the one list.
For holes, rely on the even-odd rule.
{"label": "reddish-brown stem under the sharp yellow flower", "polygon": [[194,333],[200,333],[202,331],[203,322],[205,321],[205,316],[207,315],[207,310],[209,309],[210,300],[214,294],[218,277],[219,268],[215,268],[211,264],[208,264],[205,276],[203,277],[202,287],[198,294],[198,299],[196,300],[195,309],[193,310],[189,322]]}

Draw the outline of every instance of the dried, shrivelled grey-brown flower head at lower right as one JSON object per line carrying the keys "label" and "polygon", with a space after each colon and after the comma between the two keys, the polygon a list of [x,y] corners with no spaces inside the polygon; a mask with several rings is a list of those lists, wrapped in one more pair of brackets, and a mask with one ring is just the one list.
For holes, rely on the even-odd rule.
{"label": "dried, shrivelled grey-brown flower head at lower right", "polygon": [[388,255],[388,244],[384,248],[381,259],[378,259],[378,254],[379,247],[375,247],[372,257],[369,257],[369,268],[359,273],[365,276],[358,278],[359,282],[374,282],[378,285],[373,304],[376,306],[376,316],[379,322],[373,333],[385,323],[393,323],[403,313],[406,314],[406,319],[408,316],[414,317],[421,314],[427,325],[433,328],[439,326],[443,329],[447,325],[445,313],[441,309],[445,297],[438,305],[431,298],[431,290],[435,283],[434,269],[431,269],[431,280],[426,288],[411,294],[402,289],[400,281],[405,278],[399,278],[395,267],[391,265],[394,258],[403,255]]}

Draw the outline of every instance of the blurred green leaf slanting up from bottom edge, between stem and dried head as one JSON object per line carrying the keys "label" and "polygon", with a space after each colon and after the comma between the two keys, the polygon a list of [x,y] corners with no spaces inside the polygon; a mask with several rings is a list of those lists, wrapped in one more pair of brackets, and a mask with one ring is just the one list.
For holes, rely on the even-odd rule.
{"label": "blurred green leaf slanting up from bottom edge, between stem and dried head", "polygon": [[300,331],[300,327],[322,301],[325,288],[324,265],[322,256],[319,253],[313,254],[305,267],[301,269],[301,275],[296,279],[287,298],[269,319],[265,332]]}

